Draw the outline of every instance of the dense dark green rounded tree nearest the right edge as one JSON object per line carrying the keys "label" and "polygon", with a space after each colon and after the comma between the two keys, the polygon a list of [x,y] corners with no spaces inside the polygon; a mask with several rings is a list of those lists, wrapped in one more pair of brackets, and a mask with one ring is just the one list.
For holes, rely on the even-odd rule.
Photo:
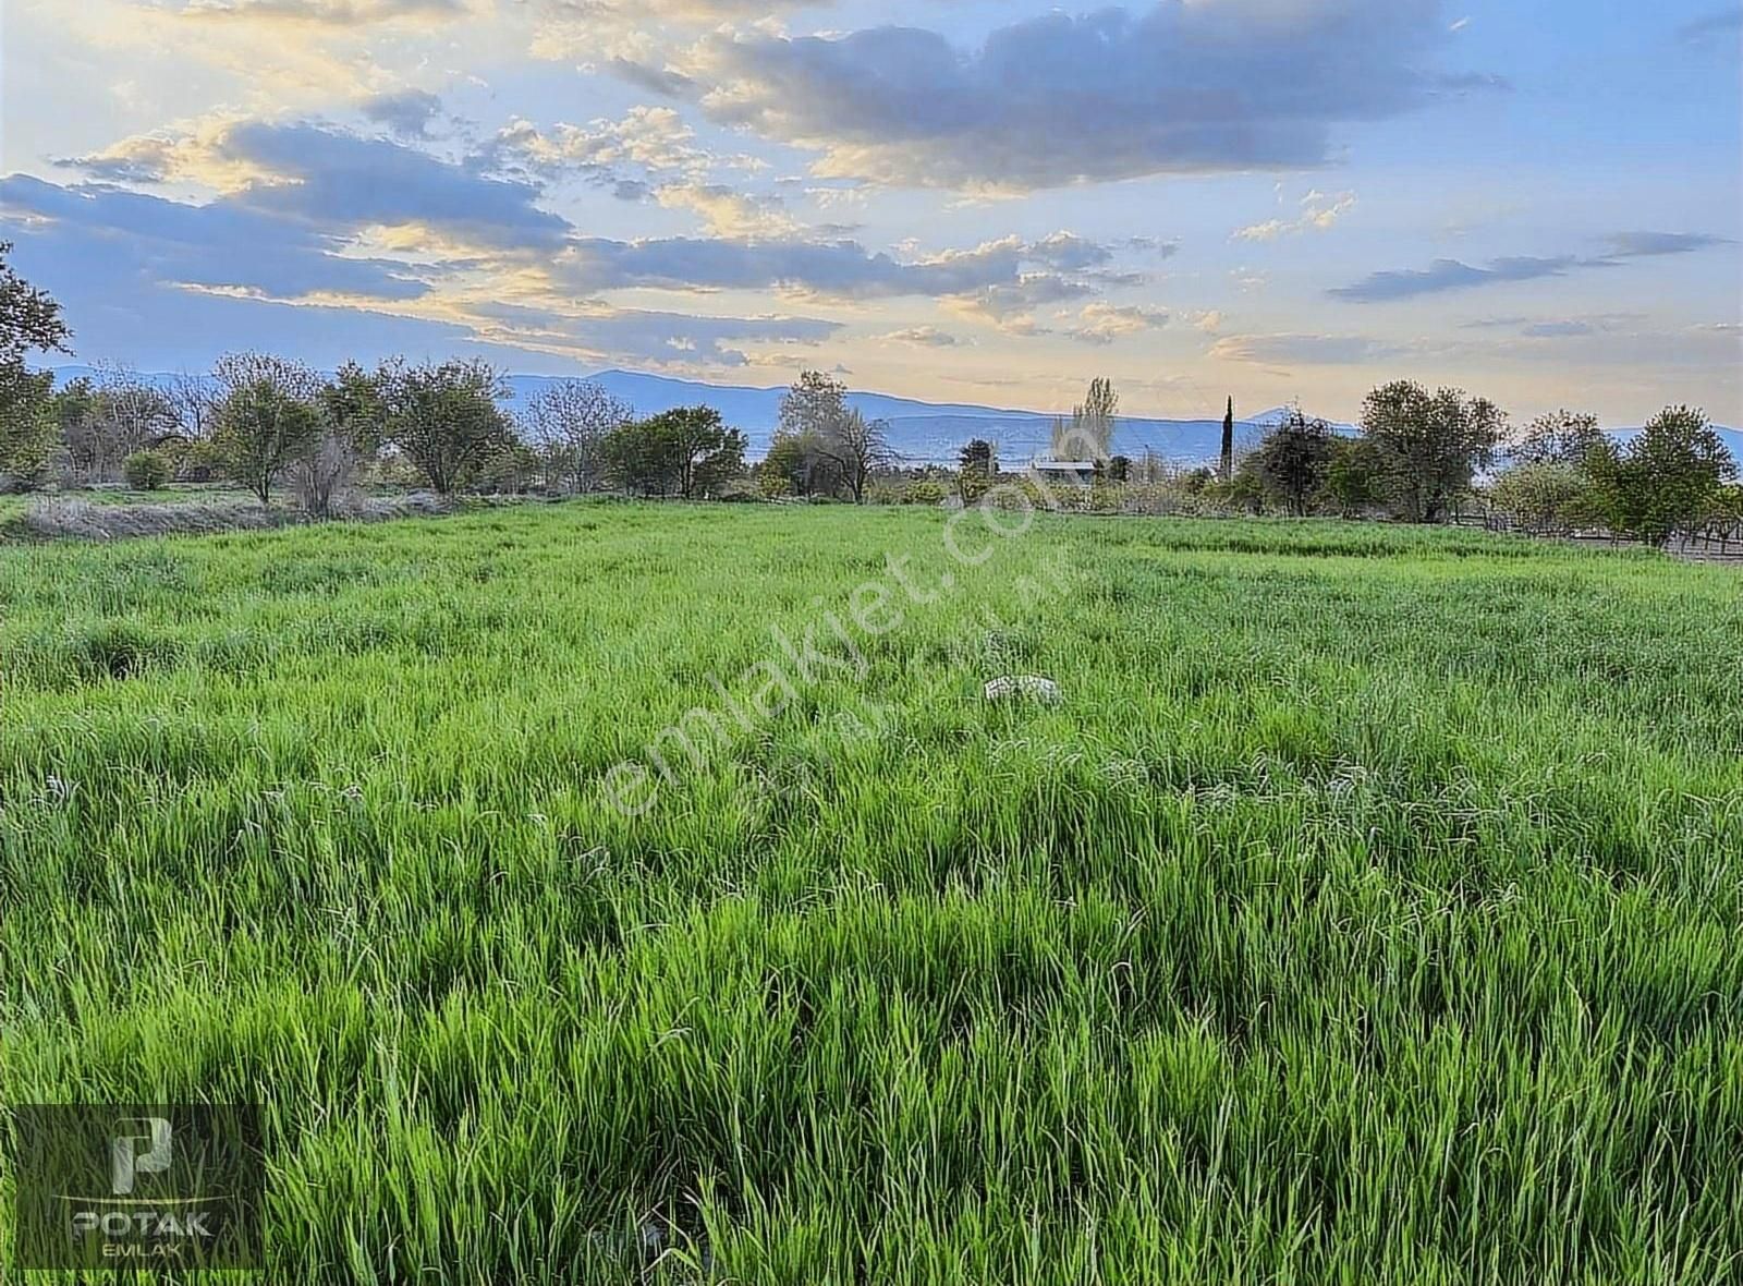
{"label": "dense dark green rounded tree nearest the right edge", "polygon": [[1607,497],[1611,525],[1663,545],[1703,519],[1736,460],[1703,411],[1668,406],[1624,448],[1593,450],[1588,470]]}

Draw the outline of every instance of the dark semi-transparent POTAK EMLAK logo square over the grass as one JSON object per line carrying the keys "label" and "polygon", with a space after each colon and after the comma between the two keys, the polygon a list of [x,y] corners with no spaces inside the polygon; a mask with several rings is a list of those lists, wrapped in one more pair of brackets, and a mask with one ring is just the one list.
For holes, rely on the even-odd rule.
{"label": "dark semi-transparent POTAK EMLAK logo square over the grass", "polygon": [[56,1103],[12,1120],[14,1267],[260,1267],[253,1107]]}

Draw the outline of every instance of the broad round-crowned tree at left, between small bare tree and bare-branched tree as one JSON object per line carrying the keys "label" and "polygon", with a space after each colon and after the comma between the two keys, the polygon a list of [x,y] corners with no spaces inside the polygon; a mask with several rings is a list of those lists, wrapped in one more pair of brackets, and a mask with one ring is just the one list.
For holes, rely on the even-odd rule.
{"label": "broad round-crowned tree at left, between small bare tree and bare-branched tree", "polygon": [[469,486],[493,455],[514,443],[497,406],[505,396],[490,362],[383,362],[375,373],[383,439],[424,474],[437,495]]}

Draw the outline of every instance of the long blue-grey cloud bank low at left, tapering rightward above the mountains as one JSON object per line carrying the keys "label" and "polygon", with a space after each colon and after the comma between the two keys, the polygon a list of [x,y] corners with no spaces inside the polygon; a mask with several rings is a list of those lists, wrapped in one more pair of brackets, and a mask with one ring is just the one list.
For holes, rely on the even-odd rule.
{"label": "long blue-grey cloud bank low at left, tapering rightward above the mountains", "polygon": [[[40,267],[78,319],[80,347],[136,361],[160,347],[206,336],[227,347],[241,342],[228,336],[246,335],[246,343],[277,342],[329,362],[492,343],[523,355],[704,369],[749,364],[749,345],[816,345],[842,328],[573,303],[537,275],[542,251],[481,268],[361,258],[340,228],[239,197],[195,206],[14,174],[0,179],[0,216],[17,225],[21,263],[33,274]],[[431,246],[420,239],[417,249]],[[469,281],[474,270],[481,281]]]}

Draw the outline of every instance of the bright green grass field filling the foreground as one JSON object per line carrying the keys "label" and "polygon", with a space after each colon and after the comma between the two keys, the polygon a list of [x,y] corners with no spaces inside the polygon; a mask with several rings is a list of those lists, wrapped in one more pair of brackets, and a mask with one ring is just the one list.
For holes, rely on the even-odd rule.
{"label": "bright green grass field filling the foreground", "polygon": [[0,1100],[260,1101],[272,1283],[1743,1277],[1734,570],[957,531],[0,549]]}

